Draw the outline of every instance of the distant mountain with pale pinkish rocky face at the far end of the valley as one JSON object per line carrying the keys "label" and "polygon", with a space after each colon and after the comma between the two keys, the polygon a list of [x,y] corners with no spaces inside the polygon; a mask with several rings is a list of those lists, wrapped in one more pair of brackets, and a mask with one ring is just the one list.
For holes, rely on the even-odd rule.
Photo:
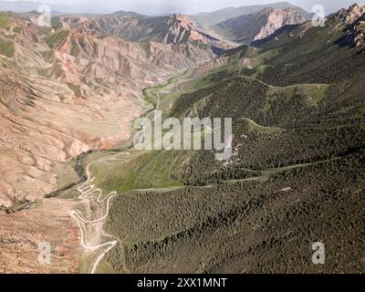
{"label": "distant mountain with pale pinkish rocky face at the far end of the valley", "polygon": [[266,8],[250,15],[230,18],[213,28],[226,39],[249,45],[254,40],[272,35],[282,26],[298,25],[306,20],[294,8]]}

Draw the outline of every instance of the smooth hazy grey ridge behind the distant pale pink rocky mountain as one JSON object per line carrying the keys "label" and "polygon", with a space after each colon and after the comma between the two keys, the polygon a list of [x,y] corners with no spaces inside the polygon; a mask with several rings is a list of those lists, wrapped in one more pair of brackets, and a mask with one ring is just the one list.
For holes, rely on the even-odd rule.
{"label": "smooth hazy grey ridge behind the distant pale pink rocky mountain", "polygon": [[241,7],[227,7],[224,9],[220,9],[211,13],[200,13],[196,16],[191,16],[193,20],[201,24],[206,28],[212,28],[213,26],[224,22],[230,18],[235,18],[238,16],[250,15],[255,12],[259,12],[266,8],[274,8],[274,9],[285,9],[288,7],[295,8],[300,16],[309,18],[311,16],[306,10],[296,5],[291,5],[287,2],[277,2],[271,3],[268,5],[250,5],[250,6],[241,6]]}

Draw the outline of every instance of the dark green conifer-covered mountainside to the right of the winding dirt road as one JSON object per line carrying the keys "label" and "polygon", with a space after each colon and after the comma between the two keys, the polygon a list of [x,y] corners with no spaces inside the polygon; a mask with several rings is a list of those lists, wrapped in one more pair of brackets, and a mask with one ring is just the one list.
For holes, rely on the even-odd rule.
{"label": "dark green conifer-covered mountainside to the right of the winding dirt road", "polygon": [[256,68],[236,66],[247,47],[231,50],[176,100],[175,117],[233,118],[234,155],[192,152],[171,174],[179,190],[116,199],[116,272],[365,272],[365,56],[337,42],[339,24],[281,29],[257,44],[276,54]]}

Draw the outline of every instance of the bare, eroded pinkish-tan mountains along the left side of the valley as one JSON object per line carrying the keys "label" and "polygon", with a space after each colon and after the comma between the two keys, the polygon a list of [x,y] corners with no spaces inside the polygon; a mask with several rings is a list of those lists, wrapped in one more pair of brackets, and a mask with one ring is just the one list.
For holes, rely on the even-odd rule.
{"label": "bare, eroded pinkish-tan mountains along the left side of the valley", "polygon": [[[51,192],[69,157],[128,137],[129,121],[144,107],[141,89],[227,48],[183,16],[56,16],[54,28],[36,19],[0,18],[2,147],[11,150],[2,159],[17,165],[2,169],[4,205],[20,190],[20,200]],[[123,26],[129,35],[120,38]]]}

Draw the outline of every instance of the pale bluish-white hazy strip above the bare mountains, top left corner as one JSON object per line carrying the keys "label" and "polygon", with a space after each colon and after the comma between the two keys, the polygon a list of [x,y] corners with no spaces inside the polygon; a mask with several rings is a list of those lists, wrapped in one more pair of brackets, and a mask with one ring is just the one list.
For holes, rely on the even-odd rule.
{"label": "pale bluish-white hazy strip above the bare mountains, top left corner", "polygon": [[52,11],[57,11],[57,14],[107,14],[112,12],[110,9],[95,5],[62,5],[32,1],[1,1],[0,11],[13,11],[23,13],[37,10],[40,5],[49,5]]}

